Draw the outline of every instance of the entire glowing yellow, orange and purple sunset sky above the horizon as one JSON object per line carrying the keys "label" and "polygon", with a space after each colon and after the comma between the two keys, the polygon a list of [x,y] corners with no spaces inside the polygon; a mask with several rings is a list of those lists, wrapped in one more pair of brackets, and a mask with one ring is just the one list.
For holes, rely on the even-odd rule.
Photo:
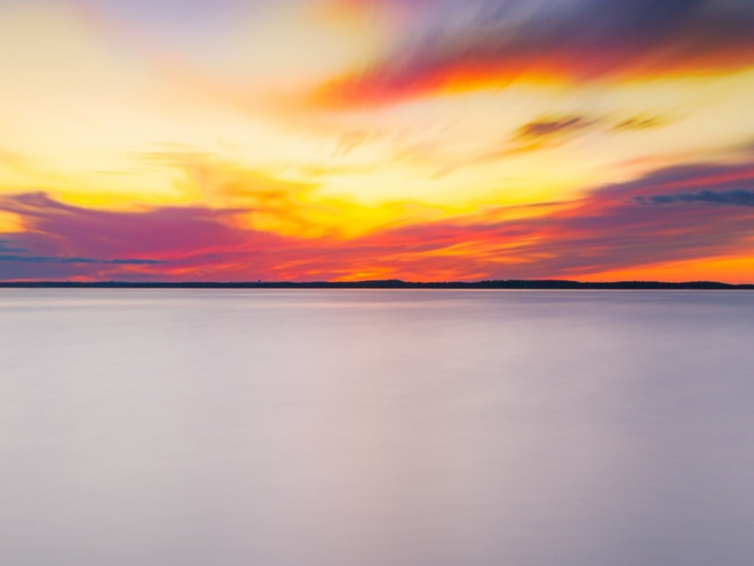
{"label": "entire glowing yellow, orange and purple sunset sky above the horizon", "polygon": [[0,280],[754,281],[754,0],[0,0]]}

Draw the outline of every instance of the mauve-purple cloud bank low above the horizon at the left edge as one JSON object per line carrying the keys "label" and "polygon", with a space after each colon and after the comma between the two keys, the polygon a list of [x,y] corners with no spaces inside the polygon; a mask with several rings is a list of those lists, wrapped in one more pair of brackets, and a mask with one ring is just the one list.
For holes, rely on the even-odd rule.
{"label": "mauve-purple cloud bank low above the horizon at the left edge", "polygon": [[191,255],[275,238],[263,232],[240,233],[234,222],[238,211],[233,209],[117,212],[67,205],[45,193],[20,193],[0,197],[0,210],[20,216],[25,226],[24,232],[0,234],[4,279],[55,273],[99,278],[121,270],[144,273],[158,268],[169,273],[170,263],[178,263],[179,269]]}

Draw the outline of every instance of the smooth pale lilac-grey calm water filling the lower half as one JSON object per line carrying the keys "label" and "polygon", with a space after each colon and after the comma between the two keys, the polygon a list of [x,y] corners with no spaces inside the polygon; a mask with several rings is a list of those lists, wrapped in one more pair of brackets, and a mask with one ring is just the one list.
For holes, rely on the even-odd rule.
{"label": "smooth pale lilac-grey calm water filling the lower half", "polygon": [[750,566],[754,293],[0,290],[0,563]]}

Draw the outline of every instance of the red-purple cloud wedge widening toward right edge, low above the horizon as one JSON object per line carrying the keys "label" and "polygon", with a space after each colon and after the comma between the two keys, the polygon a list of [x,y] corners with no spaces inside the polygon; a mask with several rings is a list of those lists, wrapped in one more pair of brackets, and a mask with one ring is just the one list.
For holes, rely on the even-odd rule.
{"label": "red-purple cloud wedge widening toward right edge, low above the horizon", "polygon": [[[598,187],[543,216],[502,222],[467,216],[374,234],[373,240],[406,250],[405,263],[431,263],[433,255],[440,255],[454,259],[457,267],[465,264],[469,271],[499,279],[579,277],[680,260],[751,256],[751,209],[709,207],[709,200],[746,200],[742,193],[719,190],[734,182],[754,186],[754,166],[663,169],[631,183]],[[710,188],[697,193],[701,199],[674,200],[664,207],[642,201],[671,185]],[[708,193],[723,196],[710,199]]]}

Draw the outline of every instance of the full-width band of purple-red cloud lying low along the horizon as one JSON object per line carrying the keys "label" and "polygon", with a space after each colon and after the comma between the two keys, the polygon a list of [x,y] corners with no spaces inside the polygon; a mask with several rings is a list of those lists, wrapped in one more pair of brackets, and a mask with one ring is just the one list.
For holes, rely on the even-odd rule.
{"label": "full-width band of purple-red cloud lying low along the horizon", "polygon": [[659,169],[529,211],[538,216],[485,208],[349,239],[263,232],[235,222],[234,209],[114,212],[27,193],[0,199],[27,226],[0,234],[0,279],[539,279],[698,267],[754,255],[753,207],[754,162]]}

